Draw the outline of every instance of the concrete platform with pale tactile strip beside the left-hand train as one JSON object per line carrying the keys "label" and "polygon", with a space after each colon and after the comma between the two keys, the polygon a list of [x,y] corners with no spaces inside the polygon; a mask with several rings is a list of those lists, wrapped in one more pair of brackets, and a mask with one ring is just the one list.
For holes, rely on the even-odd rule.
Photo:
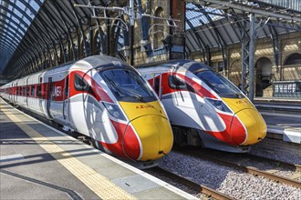
{"label": "concrete platform with pale tactile strip beside the left-hand train", "polygon": [[0,99],[1,199],[195,199]]}

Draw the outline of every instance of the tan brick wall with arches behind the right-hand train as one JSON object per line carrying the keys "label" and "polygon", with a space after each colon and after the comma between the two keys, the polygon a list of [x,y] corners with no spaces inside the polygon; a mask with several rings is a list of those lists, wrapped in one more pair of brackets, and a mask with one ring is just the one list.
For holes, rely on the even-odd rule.
{"label": "tan brick wall with arches behind the right-hand train", "polygon": [[[278,48],[279,48],[279,60],[278,65],[275,65],[273,42],[270,37],[264,39],[258,39],[255,41],[254,52],[254,65],[255,67],[260,65],[260,61],[267,60],[270,63],[270,74],[272,81],[293,81],[301,80],[301,65],[285,65],[285,60],[289,55],[294,53],[301,53],[301,34],[293,33],[287,35],[278,35]],[[211,49],[212,64],[217,69],[219,62],[223,62],[221,50]],[[228,77],[235,85],[241,82],[241,44],[226,46],[229,59],[227,60],[228,70],[222,72],[223,75]],[[190,58],[202,62],[202,54],[200,52],[193,53]],[[255,77],[260,70],[255,68]],[[265,71],[265,74],[267,71]],[[259,75],[259,74],[258,74]],[[268,79],[266,77],[265,79]],[[256,81],[256,80],[255,80]],[[267,86],[263,91],[263,96],[271,97],[273,95],[273,88]]]}

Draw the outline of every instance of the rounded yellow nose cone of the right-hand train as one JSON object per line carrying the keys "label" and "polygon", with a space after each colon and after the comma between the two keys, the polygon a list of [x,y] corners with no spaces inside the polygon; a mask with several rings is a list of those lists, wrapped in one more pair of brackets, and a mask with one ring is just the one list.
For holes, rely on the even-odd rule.
{"label": "rounded yellow nose cone of the right-hand train", "polygon": [[[235,114],[246,128],[246,138],[240,145],[254,145],[265,138],[266,125],[262,115],[255,109],[244,109]],[[235,124],[232,126],[232,132]]]}

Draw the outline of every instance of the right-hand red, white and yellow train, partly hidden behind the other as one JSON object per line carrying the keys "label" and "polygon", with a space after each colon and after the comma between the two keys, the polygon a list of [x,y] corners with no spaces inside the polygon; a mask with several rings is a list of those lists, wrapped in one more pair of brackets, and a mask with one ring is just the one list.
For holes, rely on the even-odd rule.
{"label": "right-hand red, white and yellow train, partly hidden behind the other", "polygon": [[161,98],[174,141],[229,152],[248,152],[265,138],[265,120],[228,79],[192,60],[139,67]]}

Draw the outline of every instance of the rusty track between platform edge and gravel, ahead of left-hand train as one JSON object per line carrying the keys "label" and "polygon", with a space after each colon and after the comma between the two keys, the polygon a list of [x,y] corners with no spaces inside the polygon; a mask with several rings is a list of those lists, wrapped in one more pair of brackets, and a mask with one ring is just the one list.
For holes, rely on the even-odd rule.
{"label": "rusty track between platform edge and gravel, ahead of left-hand train", "polygon": [[[210,187],[207,187],[205,185],[200,185],[198,183],[193,182],[190,179],[187,179],[181,175],[177,175],[175,173],[172,173],[170,171],[167,171],[160,166],[152,167],[150,169],[145,170],[148,173],[155,173],[156,175],[160,175],[161,177],[167,177],[168,179],[172,180],[172,182],[177,182],[181,185],[184,185],[188,188],[192,188],[192,190],[201,193],[202,195],[205,195],[207,198],[213,198],[213,199],[234,199],[233,197],[229,195],[224,195],[223,193],[218,192],[217,190],[214,190]],[[160,177],[160,178],[161,178]]]}

